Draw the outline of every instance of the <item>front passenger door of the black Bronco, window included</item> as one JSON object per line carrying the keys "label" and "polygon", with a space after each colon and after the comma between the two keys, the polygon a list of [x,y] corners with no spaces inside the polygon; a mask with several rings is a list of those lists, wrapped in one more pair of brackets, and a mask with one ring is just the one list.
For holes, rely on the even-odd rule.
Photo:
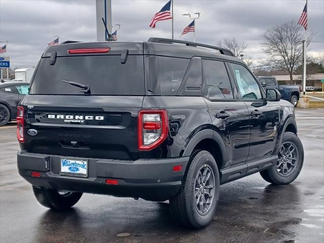
{"label": "front passenger door of the black Bronco, window included", "polygon": [[267,101],[263,89],[250,70],[242,64],[229,63],[240,100],[250,115],[250,150],[247,161],[273,155],[277,143],[279,110],[276,102]]}

